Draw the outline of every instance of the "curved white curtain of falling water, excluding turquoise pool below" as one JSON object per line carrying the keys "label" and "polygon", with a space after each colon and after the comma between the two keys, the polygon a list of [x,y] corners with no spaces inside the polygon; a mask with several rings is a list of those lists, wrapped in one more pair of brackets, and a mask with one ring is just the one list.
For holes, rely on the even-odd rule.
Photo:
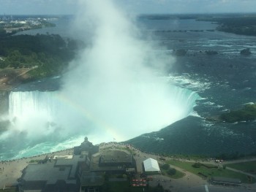
{"label": "curved white curtain of falling water, excluding turquoise pool below", "polygon": [[[156,94],[152,95],[153,91],[151,95],[148,95],[148,90],[152,89]],[[145,132],[157,131],[159,128],[186,118],[193,111],[195,101],[200,99],[197,93],[174,85],[170,85],[170,89],[165,90],[166,93],[159,93],[162,89],[156,85],[140,85],[135,91],[137,96],[136,98],[131,96],[128,105],[116,108],[111,104],[111,109],[119,110],[119,112],[112,112],[113,115],[106,114],[106,106],[102,106],[102,110],[100,110],[105,113],[95,112],[101,107],[97,106],[96,101],[99,101],[97,96],[95,101],[94,99],[87,101],[87,98],[84,98],[84,101],[78,105],[76,101],[69,102],[60,99],[60,94],[62,94],[60,91],[11,92],[9,115],[14,124],[13,128],[16,131],[26,132],[27,137],[49,136],[56,134],[56,131],[60,129],[61,135],[64,137],[67,135],[70,137],[79,132],[80,134],[91,134],[93,138],[97,137],[97,142],[105,142],[106,139],[117,136],[119,138],[116,139],[120,141]],[[131,90],[128,92],[131,93]],[[67,96],[66,100],[68,99]],[[102,96],[102,100],[104,100],[104,96]],[[115,101],[118,105],[118,101]],[[103,101],[103,105],[105,105],[105,101]],[[87,116],[83,112],[87,112]],[[119,113],[123,114],[124,112],[127,112],[127,115],[116,117]],[[110,136],[111,133],[106,125],[110,126],[111,132],[116,135]]]}

